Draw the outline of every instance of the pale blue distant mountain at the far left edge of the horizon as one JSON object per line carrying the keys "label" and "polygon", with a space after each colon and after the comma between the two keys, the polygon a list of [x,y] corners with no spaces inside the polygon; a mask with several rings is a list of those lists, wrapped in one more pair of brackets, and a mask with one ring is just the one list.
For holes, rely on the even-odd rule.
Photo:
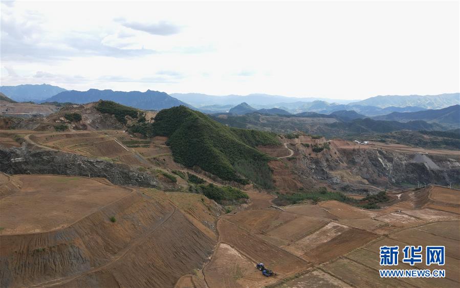
{"label": "pale blue distant mountain at the far left edge of the horizon", "polygon": [[58,86],[48,84],[0,86],[0,92],[4,93],[5,95],[8,95],[8,97],[18,102],[39,102],[63,91],[67,90]]}

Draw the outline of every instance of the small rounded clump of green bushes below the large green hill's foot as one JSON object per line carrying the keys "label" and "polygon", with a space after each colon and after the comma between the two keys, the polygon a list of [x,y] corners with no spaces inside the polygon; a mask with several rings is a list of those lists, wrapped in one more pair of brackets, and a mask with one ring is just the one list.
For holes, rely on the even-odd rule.
{"label": "small rounded clump of green bushes below the large green hill's foot", "polygon": [[223,205],[242,203],[249,199],[246,192],[230,186],[217,186],[212,183],[208,185],[200,184],[196,185],[196,190]]}

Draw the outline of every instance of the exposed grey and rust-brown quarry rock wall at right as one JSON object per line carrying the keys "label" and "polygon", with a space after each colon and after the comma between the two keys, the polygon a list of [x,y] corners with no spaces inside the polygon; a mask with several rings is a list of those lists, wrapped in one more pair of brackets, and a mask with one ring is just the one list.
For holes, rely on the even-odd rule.
{"label": "exposed grey and rust-brown quarry rock wall at right", "polygon": [[333,147],[311,156],[297,153],[290,161],[291,175],[308,187],[327,182],[344,191],[368,192],[373,191],[369,185],[390,188],[417,185],[418,181],[438,185],[460,182],[460,159],[447,156]]}

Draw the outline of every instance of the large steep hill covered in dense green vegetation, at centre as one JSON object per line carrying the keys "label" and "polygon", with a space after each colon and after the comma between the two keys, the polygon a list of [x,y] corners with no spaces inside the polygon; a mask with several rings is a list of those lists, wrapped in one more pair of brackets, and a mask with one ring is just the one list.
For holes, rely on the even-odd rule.
{"label": "large steep hill covered in dense green vegetation, at centre", "polygon": [[264,188],[272,185],[267,164],[271,158],[255,147],[278,145],[273,133],[227,127],[185,106],[161,110],[154,123],[136,124],[129,130],[146,137],[168,137],[174,160],[186,167],[199,166],[242,184],[249,179]]}

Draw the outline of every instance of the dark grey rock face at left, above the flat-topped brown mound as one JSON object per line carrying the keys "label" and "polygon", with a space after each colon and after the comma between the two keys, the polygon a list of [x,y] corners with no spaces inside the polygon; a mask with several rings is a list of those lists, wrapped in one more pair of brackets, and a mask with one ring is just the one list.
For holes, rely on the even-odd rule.
{"label": "dark grey rock face at left, above the flat-topped brown mound", "polygon": [[128,165],[58,151],[34,151],[26,147],[7,149],[0,146],[0,172],[89,176],[105,178],[117,185],[162,188],[154,176]]}

